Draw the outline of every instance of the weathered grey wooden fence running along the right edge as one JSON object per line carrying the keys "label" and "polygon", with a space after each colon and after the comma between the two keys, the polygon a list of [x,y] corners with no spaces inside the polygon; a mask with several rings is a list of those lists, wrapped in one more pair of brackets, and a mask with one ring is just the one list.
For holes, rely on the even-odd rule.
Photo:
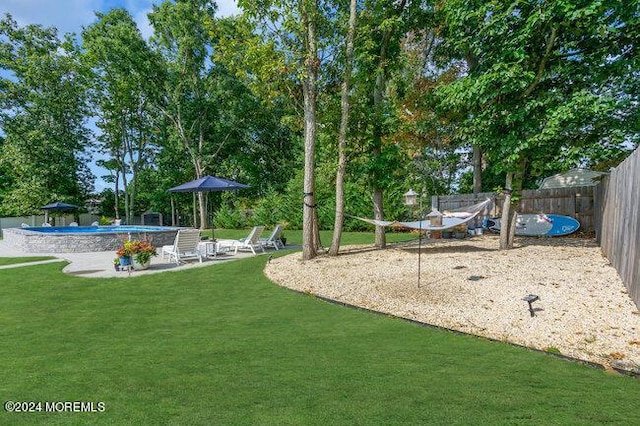
{"label": "weathered grey wooden fence running along the right edge", "polygon": [[640,148],[598,185],[596,239],[640,307]]}

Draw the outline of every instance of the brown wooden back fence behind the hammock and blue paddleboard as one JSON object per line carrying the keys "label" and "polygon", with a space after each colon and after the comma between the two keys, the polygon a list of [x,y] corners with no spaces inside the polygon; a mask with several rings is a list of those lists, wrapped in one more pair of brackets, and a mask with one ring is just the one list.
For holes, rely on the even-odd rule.
{"label": "brown wooden back fence behind the hammock and blue paddleboard", "polygon": [[[504,197],[495,192],[478,194],[435,195],[431,197],[431,205],[440,211],[464,208],[487,198],[493,201],[490,211],[484,217],[500,216]],[[520,197],[518,213],[548,213],[571,216],[580,222],[580,228],[593,231],[595,223],[594,187],[581,186],[574,188],[553,188],[541,190],[524,190]],[[479,226],[480,223],[476,223]]]}

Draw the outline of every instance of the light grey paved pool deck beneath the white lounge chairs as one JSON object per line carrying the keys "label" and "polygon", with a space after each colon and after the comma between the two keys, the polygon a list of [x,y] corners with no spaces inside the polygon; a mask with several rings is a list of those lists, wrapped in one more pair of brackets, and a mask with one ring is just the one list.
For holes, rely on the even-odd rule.
{"label": "light grey paved pool deck beneath the white lounge chairs", "polygon": [[[159,248],[158,252],[160,252]],[[258,252],[258,256],[269,255],[270,253],[273,253],[273,250],[266,250],[264,254],[262,252]],[[149,269],[146,269],[144,271],[127,272],[115,270],[115,268],[113,267],[113,259],[115,258],[115,253],[111,251],[98,251],[90,253],[26,253],[21,251],[19,248],[8,244],[4,240],[0,241],[0,257],[25,256],[55,256],[56,259],[0,266],[0,269],[20,268],[36,264],[66,261],[69,262],[69,264],[64,267],[62,272],[69,275],[88,278],[128,278],[145,274],[182,271],[185,269],[211,266],[222,262],[229,262],[232,260],[253,256],[253,253],[239,251],[236,255],[222,254],[218,255],[216,258],[203,258],[202,263],[200,263],[196,259],[189,260],[187,262],[181,263],[180,265],[176,265],[175,261],[169,262],[168,259],[163,259],[162,256],[158,254],[151,259],[151,266],[149,266]]]}

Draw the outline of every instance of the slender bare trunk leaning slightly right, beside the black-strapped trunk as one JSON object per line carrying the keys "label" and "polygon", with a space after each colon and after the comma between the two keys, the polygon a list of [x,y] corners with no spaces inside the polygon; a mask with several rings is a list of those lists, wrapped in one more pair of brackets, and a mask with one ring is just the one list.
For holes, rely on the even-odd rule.
{"label": "slender bare trunk leaning slightly right, beside the black-strapped trunk", "polygon": [[333,241],[329,254],[336,256],[340,250],[342,226],[344,223],[344,175],[347,168],[347,128],[349,127],[349,86],[351,83],[351,69],[353,63],[353,40],[356,32],[356,0],[349,4],[349,26],[345,48],[344,77],[342,80],[342,117],[340,118],[340,132],[338,134],[338,171],[336,172],[336,218],[333,225]]}

